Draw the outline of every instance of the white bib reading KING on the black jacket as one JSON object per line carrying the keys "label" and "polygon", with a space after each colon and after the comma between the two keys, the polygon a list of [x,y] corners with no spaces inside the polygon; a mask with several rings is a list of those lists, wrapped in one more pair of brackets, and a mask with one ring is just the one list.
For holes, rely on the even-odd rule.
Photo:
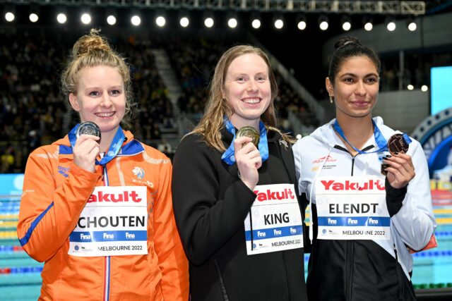
{"label": "white bib reading KING on the black jacket", "polygon": [[246,216],[246,254],[262,254],[303,247],[303,221],[292,184],[258,185],[257,197]]}

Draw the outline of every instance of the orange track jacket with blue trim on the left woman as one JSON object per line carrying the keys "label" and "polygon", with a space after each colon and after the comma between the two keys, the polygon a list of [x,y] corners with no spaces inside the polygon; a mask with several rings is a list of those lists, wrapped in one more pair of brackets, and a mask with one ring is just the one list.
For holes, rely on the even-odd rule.
{"label": "orange track jacket with blue trim on the left woman", "polygon": [[69,235],[93,189],[104,182],[101,166],[90,173],[73,164],[66,135],[35,149],[25,169],[18,238],[30,257],[45,262],[40,300],[188,300],[188,263],[172,211],[171,163],[130,132],[124,135],[106,173],[109,186],[147,187],[148,254],[68,254]]}

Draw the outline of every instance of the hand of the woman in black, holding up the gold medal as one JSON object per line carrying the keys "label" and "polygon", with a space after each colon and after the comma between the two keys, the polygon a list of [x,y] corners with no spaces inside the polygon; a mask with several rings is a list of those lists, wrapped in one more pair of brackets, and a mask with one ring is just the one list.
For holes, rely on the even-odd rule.
{"label": "hand of the woman in black, holding up the gold medal", "polygon": [[262,158],[259,150],[251,143],[250,137],[239,137],[234,140],[234,156],[240,179],[253,190],[259,180],[258,169],[262,166]]}

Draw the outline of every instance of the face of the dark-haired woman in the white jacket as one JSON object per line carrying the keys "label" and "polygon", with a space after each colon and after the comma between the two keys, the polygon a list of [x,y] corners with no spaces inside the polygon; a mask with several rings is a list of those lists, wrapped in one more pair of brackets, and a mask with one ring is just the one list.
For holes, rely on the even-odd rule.
{"label": "face of the dark-haired woman in the white jacket", "polygon": [[371,117],[379,94],[379,73],[367,56],[352,56],[343,62],[334,82],[326,78],[334,97],[337,118]]}

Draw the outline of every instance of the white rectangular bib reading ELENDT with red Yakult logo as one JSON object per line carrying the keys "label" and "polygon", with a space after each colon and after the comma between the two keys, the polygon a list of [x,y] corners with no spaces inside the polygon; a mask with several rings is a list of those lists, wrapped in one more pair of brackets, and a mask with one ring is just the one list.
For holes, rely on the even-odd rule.
{"label": "white rectangular bib reading ELENDT with red Yakult logo", "polygon": [[316,180],[318,239],[389,240],[391,218],[380,176]]}

